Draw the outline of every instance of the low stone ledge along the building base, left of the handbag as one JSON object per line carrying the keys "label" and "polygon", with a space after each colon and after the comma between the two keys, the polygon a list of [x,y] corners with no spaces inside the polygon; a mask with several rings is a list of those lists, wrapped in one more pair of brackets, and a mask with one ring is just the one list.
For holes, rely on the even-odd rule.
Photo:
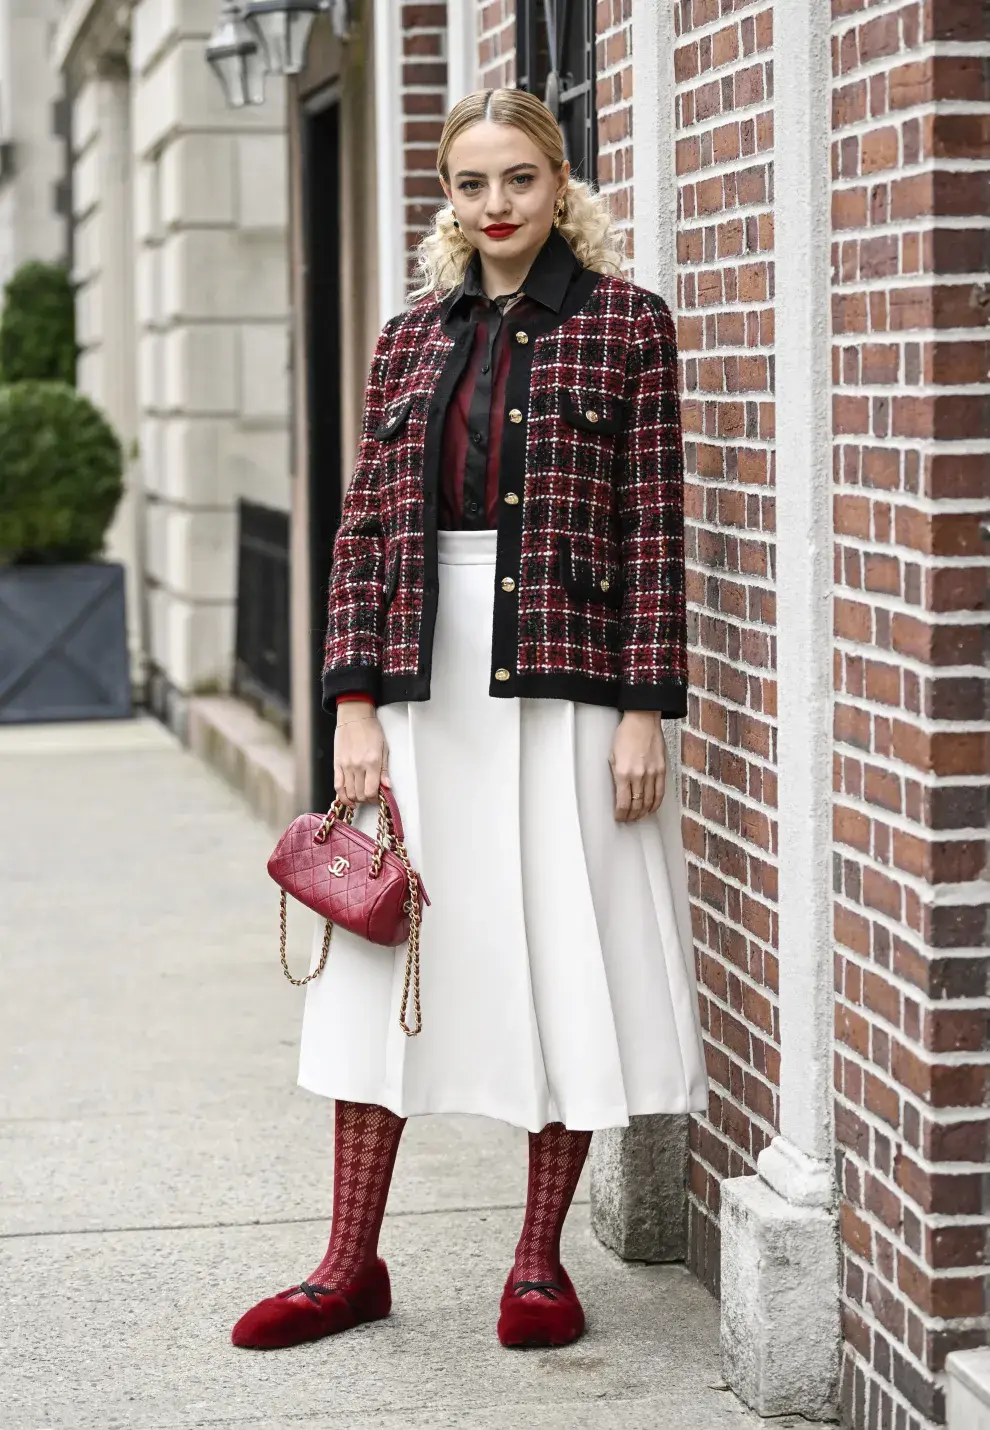
{"label": "low stone ledge along the building base, left of the handbag", "polygon": [[230,695],[193,696],[185,738],[273,831],[280,834],[292,822],[298,814],[292,746],[249,705]]}

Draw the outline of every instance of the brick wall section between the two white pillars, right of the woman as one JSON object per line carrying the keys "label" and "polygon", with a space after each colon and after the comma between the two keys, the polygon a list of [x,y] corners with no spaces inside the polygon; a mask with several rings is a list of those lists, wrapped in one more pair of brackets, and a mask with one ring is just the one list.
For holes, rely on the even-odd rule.
{"label": "brick wall section between the two white pillars, right of the woman", "polygon": [[691,692],[682,732],[708,1115],[690,1263],[718,1293],[722,1177],[777,1123],[773,6],[678,0],[678,342]]}

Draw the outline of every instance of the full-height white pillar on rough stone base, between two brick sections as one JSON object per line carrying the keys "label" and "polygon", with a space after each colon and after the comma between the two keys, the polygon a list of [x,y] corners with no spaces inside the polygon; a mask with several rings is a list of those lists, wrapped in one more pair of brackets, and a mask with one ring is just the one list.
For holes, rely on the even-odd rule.
{"label": "full-height white pillar on rough stone base, between two brick sections", "polygon": [[780,1134],[721,1187],[722,1364],[761,1416],[831,1416],[830,17],[777,6]]}

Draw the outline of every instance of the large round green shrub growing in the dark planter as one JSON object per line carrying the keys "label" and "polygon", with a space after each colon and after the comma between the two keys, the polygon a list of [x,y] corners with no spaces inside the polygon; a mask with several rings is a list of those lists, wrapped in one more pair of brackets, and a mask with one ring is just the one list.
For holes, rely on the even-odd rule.
{"label": "large round green shrub growing in the dark planter", "polygon": [[123,453],[62,382],[0,388],[0,562],[89,561],[123,495]]}

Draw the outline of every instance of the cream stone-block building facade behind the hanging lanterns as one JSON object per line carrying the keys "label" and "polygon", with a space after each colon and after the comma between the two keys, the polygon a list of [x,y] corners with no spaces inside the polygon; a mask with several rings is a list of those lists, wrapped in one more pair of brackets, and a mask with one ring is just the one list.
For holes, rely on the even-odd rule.
{"label": "cream stone-block building facade behind the hanging lanterns", "polygon": [[237,503],[289,508],[283,86],[232,114],[212,0],[63,3],[80,386],[132,453],[110,552],[139,688],[176,728],[229,689]]}

